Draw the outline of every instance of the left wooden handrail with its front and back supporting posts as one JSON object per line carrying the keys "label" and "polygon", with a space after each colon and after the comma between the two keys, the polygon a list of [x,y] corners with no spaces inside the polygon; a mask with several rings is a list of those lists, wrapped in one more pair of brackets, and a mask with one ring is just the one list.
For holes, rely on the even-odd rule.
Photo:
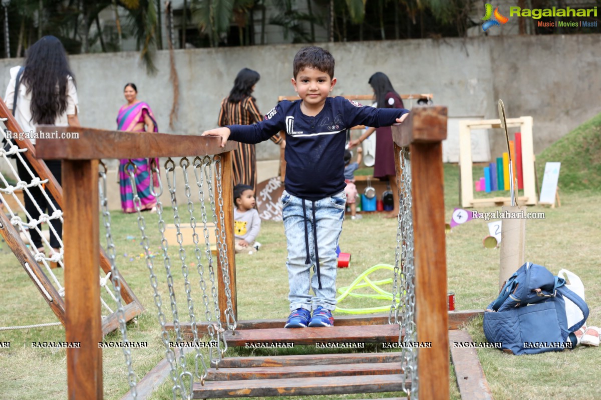
{"label": "left wooden handrail with its front and back supporting posts", "polygon": [[[78,140],[40,139],[37,157],[63,160],[65,306],[66,340],[81,342],[79,348],[67,349],[67,386],[69,399],[99,400],[102,390],[102,326],[100,320],[99,275],[99,200],[98,165],[101,158],[187,157],[222,154],[222,196],[231,279],[234,316],[236,281],[233,234],[233,185],[231,150],[236,142],[221,148],[220,139],[205,136],[164,133],[131,133],[82,127],[38,127],[38,131],[58,130],[79,133]],[[217,204],[219,205],[219,204]],[[219,212],[219,209],[218,209]],[[90,221],[81,224],[79,221]],[[221,274],[218,285],[224,287]],[[224,311],[225,294],[219,296]]]}

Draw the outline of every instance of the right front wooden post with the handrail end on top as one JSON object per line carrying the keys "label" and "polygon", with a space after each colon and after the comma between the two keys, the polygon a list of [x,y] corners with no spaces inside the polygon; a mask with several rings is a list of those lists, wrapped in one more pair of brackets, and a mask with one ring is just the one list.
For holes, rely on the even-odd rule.
{"label": "right front wooden post with the handrail end on top", "polygon": [[392,127],[392,139],[397,177],[401,174],[401,148],[409,148],[417,339],[432,342],[432,348],[419,351],[419,396],[448,399],[447,255],[442,169],[447,107],[413,107],[403,124]]}

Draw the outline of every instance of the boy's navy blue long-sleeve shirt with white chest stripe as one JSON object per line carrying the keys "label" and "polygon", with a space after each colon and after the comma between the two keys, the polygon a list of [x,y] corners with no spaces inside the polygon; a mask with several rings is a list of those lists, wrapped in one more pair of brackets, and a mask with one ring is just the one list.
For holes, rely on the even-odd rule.
{"label": "boy's navy blue long-sleeve shirt with white chest stripe", "polygon": [[[316,116],[301,112],[301,100],[281,101],[254,125],[229,125],[229,139],[260,143],[286,133],[285,189],[301,199],[319,200],[344,190],[346,131],[356,125],[385,127],[406,109],[375,109],[344,97],[328,97]],[[391,149],[392,151],[392,149]]]}

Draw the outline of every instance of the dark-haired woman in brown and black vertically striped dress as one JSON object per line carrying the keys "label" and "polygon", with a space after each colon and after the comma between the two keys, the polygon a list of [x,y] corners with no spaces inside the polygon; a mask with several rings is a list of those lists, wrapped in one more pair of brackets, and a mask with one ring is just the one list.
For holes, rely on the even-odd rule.
{"label": "dark-haired woman in brown and black vertically striped dress", "polygon": [[[221,110],[219,111],[219,126],[225,125],[252,125],[263,119],[258,110],[257,102],[252,97],[252,91],[255,88],[260,75],[257,71],[249,68],[242,68],[236,80],[230,95],[221,101]],[[274,135],[271,140],[273,143],[284,146],[284,140],[280,134]],[[255,154],[255,145],[238,143],[238,149],[234,150],[233,157],[234,185],[243,184],[257,190],[257,155]]]}

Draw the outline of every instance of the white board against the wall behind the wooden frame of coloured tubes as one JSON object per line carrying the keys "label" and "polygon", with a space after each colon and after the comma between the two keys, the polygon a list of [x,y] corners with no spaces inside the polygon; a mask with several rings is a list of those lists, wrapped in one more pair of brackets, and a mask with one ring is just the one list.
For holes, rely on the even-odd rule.
{"label": "white board against the wall behind the wooden frame of coloured tubes", "polygon": [[[442,162],[459,163],[459,121],[478,120],[484,116],[449,117],[447,119],[447,139],[442,141]],[[490,162],[488,130],[472,129],[472,163]]]}

